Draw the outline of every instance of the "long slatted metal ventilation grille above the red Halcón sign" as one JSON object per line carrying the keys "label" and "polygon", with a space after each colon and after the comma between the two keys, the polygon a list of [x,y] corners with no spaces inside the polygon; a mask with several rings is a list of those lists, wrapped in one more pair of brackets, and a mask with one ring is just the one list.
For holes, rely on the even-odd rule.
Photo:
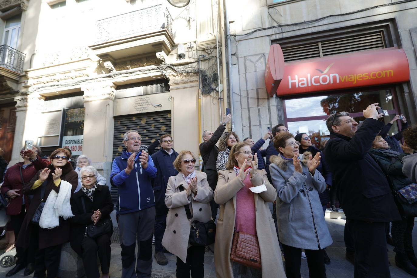
{"label": "long slatted metal ventilation grille above the red Halc\u00f3n sign", "polygon": [[371,33],[345,35],[333,40],[322,40],[306,45],[281,45],[284,61],[292,62],[344,53],[359,52],[372,49],[386,48],[383,32],[378,30]]}

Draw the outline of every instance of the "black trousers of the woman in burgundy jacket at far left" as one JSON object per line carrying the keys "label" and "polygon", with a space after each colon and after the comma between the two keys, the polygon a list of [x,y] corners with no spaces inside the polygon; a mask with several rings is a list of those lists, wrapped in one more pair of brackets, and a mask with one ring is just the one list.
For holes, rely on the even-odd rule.
{"label": "black trousers of the woman in burgundy jacket at far left", "polygon": [[[22,209],[19,214],[17,215],[10,215],[10,223],[12,224],[13,230],[15,232],[15,239],[18,238],[20,228],[22,228],[23,220],[26,216],[26,210],[25,205],[22,205]],[[28,236],[31,236],[30,233],[28,233]],[[16,264],[22,264],[27,265],[28,263],[35,263],[35,252],[36,252],[36,246],[34,244],[33,240],[30,240],[30,245],[26,250],[20,246],[16,246],[16,256],[18,257],[18,260],[16,261]]]}

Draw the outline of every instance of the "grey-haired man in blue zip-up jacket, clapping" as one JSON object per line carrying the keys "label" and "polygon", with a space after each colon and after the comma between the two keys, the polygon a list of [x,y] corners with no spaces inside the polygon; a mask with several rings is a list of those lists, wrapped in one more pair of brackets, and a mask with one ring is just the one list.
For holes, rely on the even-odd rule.
{"label": "grey-haired man in blue zip-up jacket, clapping", "polygon": [[[136,130],[123,135],[121,156],[113,160],[111,184],[118,187],[116,210],[121,239],[122,277],[151,277],[152,233],[155,225],[155,197],[151,178],[156,167],[145,151],[139,151],[141,136]],[[138,258],[135,271],[135,248]]]}

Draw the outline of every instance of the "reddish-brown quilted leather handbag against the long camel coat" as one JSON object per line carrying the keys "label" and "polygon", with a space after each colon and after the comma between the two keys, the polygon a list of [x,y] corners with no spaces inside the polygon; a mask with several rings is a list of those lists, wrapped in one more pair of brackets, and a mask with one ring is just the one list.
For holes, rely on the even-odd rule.
{"label": "reddish-brown quilted leather handbag against the long camel coat", "polygon": [[258,238],[249,233],[234,232],[230,259],[250,268],[261,269]]}

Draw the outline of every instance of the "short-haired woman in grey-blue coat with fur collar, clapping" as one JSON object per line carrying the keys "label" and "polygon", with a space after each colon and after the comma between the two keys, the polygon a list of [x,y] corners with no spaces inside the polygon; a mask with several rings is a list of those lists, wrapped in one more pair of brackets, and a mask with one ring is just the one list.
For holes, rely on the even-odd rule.
{"label": "short-haired woman in grey-blue coat with fur collar, clapping", "polygon": [[319,198],[326,190],[326,180],[317,170],[321,153],[300,155],[299,142],[288,132],[276,135],[274,146],[280,154],[271,156],[269,171],[278,193],[276,215],[286,275],[301,277],[304,249],[310,277],[325,278],[323,249],[332,244],[332,238]]}

